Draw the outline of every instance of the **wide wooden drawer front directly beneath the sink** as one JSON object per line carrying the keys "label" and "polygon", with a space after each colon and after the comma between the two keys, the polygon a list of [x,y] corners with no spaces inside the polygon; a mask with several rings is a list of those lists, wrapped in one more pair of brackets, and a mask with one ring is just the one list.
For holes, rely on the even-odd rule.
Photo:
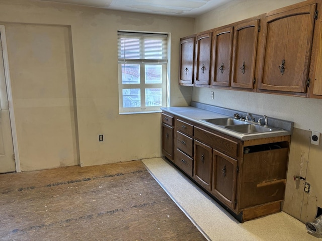
{"label": "wide wooden drawer front directly beneath the sink", "polygon": [[224,154],[237,159],[238,157],[238,142],[218,136],[211,132],[205,131],[198,127],[194,129],[195,139],[207,143],[213,149],[217,149]]}

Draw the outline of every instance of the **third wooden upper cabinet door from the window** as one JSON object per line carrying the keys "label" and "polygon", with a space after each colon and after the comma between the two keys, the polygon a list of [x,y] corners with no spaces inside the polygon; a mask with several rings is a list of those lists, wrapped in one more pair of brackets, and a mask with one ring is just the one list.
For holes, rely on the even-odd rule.
{"label": "third wooden upper cabinet door from the window", "polygon": [[231,74],[232,27],[215,29],[213,33],[213,51],[211,74],[212,85],[229,86]]}

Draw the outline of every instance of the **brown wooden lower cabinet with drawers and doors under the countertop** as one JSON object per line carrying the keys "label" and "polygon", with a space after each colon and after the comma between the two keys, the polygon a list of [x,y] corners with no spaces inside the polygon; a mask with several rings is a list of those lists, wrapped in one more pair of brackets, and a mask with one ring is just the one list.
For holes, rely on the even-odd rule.
{"label": "brown wooden lower cabinet with drawers and doors under the countertop", "polygon": [[[280,211],[290,136],[242,141],[182,116],[163,114],[174,123],[173,146],[167,148],[174,150],[174,157],[163,148],[167,159],[237,220]],[[163,123],[163,133],[169,133],[167,128]],[[169,142],[165,134],[163,139],[163,145]]]}

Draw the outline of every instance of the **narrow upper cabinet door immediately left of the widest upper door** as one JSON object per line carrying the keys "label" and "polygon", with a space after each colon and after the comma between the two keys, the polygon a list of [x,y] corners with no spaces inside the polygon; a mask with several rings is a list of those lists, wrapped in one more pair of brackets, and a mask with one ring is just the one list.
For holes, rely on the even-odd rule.
{"label": "narrow upper cabinet door immediately left of the widest upper door", "polygon": [[259,20],[234,27],[231,86],[252,89],[255,78]]}

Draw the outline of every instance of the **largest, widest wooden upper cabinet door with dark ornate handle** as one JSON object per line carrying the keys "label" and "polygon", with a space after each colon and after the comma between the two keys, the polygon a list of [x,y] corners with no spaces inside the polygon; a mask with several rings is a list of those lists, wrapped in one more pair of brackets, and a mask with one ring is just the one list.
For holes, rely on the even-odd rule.
{"label": "largest, widest wooden upper cabinet door with dark ornate handle", "polygon": [[259,89],[305,92],[316,4],[266,16]]}

